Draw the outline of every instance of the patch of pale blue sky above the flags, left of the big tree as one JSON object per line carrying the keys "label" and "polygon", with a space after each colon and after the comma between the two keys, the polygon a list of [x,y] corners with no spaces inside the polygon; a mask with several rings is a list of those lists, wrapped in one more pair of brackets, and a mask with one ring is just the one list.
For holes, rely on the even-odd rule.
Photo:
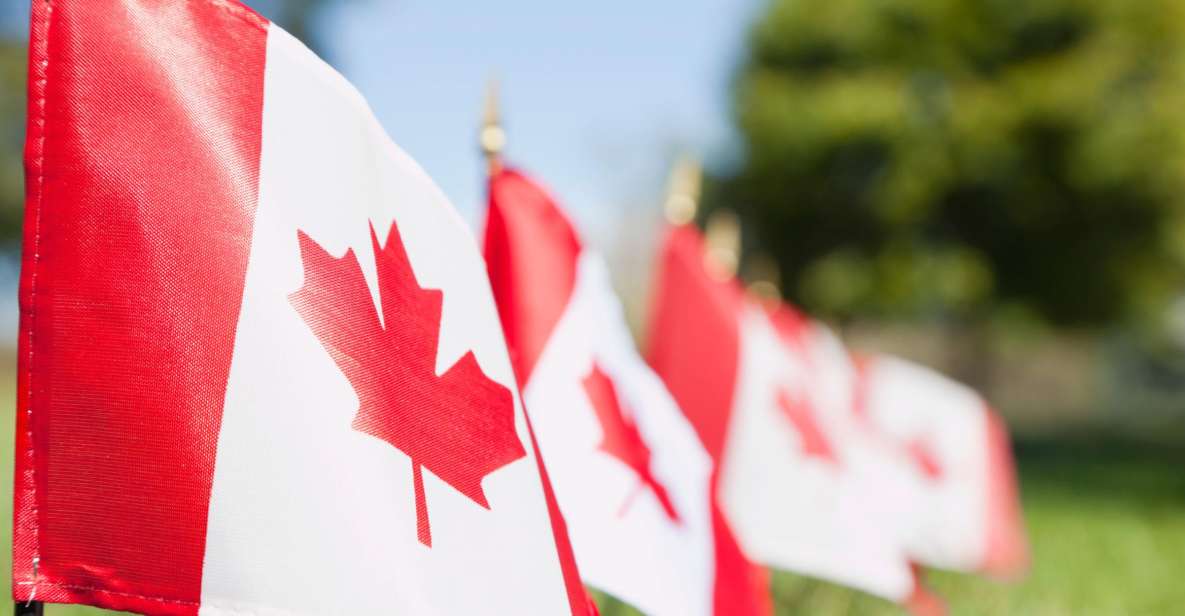
{"label": "patch of pale blue sky above the flags, left of the big tree", "polygon": [[658,208],[673,153],[725,160],[728,84],[758,0],[361,0],[320,24],[334,64],[470,220],[476,130],[501,84],[507,158],[592,235]]}

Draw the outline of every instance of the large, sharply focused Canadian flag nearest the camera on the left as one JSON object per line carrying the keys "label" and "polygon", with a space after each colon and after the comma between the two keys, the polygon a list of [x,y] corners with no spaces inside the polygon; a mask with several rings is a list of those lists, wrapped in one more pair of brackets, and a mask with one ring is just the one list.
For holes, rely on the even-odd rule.
{"label": "large, sharply focused Canadian flag nearest the camera on the left", "polygon": [[13,584],[147,614],[584,614],[485,263],[233,0],[38,0]]}

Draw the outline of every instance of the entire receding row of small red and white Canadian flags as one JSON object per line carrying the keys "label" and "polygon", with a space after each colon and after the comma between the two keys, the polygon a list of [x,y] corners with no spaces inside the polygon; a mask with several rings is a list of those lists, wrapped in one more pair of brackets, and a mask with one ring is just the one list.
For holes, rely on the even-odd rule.
{"label": "entire receding row of small red and white Canadian flags", "polygon": [[[1014,576],[971,390],[747,293],[675,205],[643,351],[494,160],[480,245],[327,64],[236,0],[33,2],[18,602],[142,614],[918,614]],[[684,195],[686,197],[686,195]]]}

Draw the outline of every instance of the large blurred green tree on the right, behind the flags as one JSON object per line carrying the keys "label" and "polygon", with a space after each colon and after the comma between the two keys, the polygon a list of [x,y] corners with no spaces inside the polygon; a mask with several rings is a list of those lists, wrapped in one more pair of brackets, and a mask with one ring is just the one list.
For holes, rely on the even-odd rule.
{"label": "large blurred green tree on the right, behind the flags", "polygon": [[1179,0],[775,0],[735,88],[709,207],[811,310],[1077,326],[1185,290]]}

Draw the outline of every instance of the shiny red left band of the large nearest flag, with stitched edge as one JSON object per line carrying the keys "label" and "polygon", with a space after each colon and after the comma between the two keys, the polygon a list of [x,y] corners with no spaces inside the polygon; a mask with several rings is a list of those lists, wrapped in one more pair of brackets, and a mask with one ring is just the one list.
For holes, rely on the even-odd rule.
{"label": "shiny red left band of the large nearest flag, with stitched edge", "polygon": [[197,612],[267,28],[220,0],[33,2],[18,601]]}

